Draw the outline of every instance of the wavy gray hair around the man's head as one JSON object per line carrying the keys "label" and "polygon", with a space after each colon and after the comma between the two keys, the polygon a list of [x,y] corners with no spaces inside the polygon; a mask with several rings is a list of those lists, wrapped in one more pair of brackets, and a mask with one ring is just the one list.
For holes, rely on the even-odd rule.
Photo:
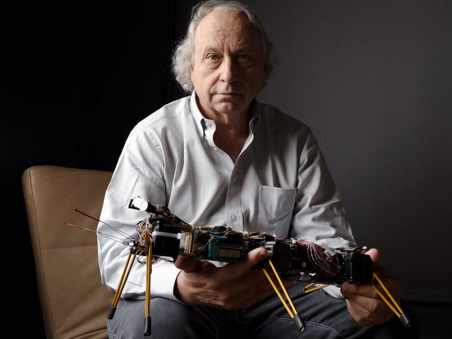
{"label": "wavy gray hair around the man's head", "polygon": [[195,54],[194,35],[199,22],[204,19],[207,14],[213,11],[244,14],[250,23],[259,30],[262,37],[262,52],[264,54],[265,64],[267,67],[267,73],[265,75],[265,82],[267,82],[275,63],[273,56],[273,44],[268,39],[267,33],[265,33],[264,27],[256,15],[256,12],[250,6],[244,5],[237,1],[228,0],[208,0],[193,7],[187,34],[177,44],[172,58],[171,66],[177,82],[179,82],[185,91],[193,91],[193,83],[191,82],[191,66],[194,64]]}

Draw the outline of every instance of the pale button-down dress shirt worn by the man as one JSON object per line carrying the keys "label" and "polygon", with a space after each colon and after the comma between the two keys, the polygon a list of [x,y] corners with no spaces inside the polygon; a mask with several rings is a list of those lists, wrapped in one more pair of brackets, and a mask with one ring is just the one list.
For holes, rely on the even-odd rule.
{"label": "pale button-down dress shirt worn by the man", "polygon": [[[195,93],[173,101],[131,132],[105,193],[100,220],[135,238],[146,212],[129,209],[140,195],[196,226],[265,231],[329,247],[355,246],[341,197],[310,129],[254,100],[249,136],[234,164],[213,142],[215,122]],[[98,232],[119,237],[105,224]],[[97,236],[102,283],[115,291],[129,247]],[[178,300],[179,270],[153,265],[151,296]],[[144,299],[146,265],[135,263],[122,297]]]}

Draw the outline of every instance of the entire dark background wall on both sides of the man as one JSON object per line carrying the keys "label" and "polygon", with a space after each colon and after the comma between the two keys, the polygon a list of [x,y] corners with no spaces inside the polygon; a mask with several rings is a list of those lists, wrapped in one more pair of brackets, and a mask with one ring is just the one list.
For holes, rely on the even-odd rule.
{"label": "entire dark background wall on both sides of the man", "polygon": [[[113,170],[132,127],[183,95],[169,63],[194,3],[5,9],[6,307],[20,304],[40,318],[22,172]],[[450,333],[434,324],[451,317],[452,3],[248,3],[280,61],[260,99],[313,129],[357,242],[381,250],[425,335]],[[44,336],[42,327],[35,333]]]}

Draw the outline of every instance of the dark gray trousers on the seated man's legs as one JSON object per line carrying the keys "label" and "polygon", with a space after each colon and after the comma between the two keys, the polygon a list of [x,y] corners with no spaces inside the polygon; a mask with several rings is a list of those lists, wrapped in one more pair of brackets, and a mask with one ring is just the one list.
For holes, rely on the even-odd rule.
{"label": "dark gray trousers on the seated man's legs", "polygon": [[[394,316],[377,326],[361,326],[347,310],[344,299],[322,290],[304,295],[305,283],[295,281],[289,295],[305,323],[298,332],[276,294],[261,301],[228,311],[207,306],[187,306],[166,298],[151,299],[151,338],[416,338],[419,327],[414,312],[402,300],[414,328],[406,329]],[[238,296],[240,297],[240,296]],[[143,336],[145,301],[121,299],[115,316],[107,320],[110,339],[147,338]]]}

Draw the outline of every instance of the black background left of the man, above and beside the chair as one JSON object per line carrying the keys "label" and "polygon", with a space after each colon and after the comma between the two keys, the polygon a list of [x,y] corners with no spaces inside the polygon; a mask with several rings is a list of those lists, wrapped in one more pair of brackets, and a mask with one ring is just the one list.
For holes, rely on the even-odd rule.
{"label": "black background left of the man, above and beside the chair", "polygon": [[170,56],[195,3],[16,2],[3,11],[3,304],[22,310],[7,313],[16,320],[36,321],[27,328],[33,337],[45,332],[22,173],[35,165],[114,170],[133,126],[183,95]]}

